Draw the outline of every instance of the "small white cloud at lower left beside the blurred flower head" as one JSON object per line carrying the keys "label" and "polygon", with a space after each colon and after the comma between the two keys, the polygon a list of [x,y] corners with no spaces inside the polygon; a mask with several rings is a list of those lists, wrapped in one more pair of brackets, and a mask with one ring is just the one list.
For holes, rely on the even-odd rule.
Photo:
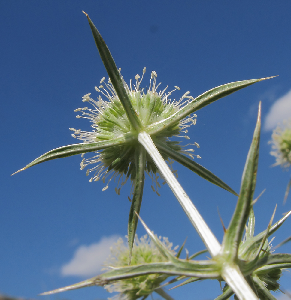
{"label": "small white cloud at lower left beside the blurred flower head", "polygon": [[119,236],[103,237],[98,243],[89,246],[81,245],[74,253],[70,262],[63,265],[63,276],[95,276],[100,273],[102,264],[110,254],[109,248],[117,241]]}

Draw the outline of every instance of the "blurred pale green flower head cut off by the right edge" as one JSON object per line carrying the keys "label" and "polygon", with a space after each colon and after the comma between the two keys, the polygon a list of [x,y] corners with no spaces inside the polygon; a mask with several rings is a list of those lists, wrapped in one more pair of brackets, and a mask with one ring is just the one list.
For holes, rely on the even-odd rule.
{"label": "blurred pale green flower head cut off by the right edge", "polygon": [[276,157],[275,166],[288,168],[291,164],[291,119],[283,122],[283,127],[277,126],[272,134],[271,155]]}

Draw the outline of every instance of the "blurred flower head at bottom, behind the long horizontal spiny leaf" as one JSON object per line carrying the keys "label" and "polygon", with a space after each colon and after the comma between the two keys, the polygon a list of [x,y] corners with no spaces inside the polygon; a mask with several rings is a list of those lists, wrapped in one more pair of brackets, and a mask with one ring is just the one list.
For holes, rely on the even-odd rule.
{"label": "blurred flower head at bottom, behind the long horizontal spiny leaf", "polygon": [[[170,250],[173,254],[176,254],[174,250],[176,250],[178,246],[172,250],[171,248],[173,244],[168,241],[168,238],[159,237],[159,239],[162,240],[162,243],[168,248],[168,250]],[[111,256],[109,256],[109,258],[105,261],[106,265],[111,267],[123,267],[128,265],[128,247],[126,247],[121,238],[117,241],[114,247],[111,247],[110,250]],[[165,261],[165,257],[162,256],[147,235],[144,235],[141,238],[138,238],[137,236],[135,237],[131,265]],[[165,274],[150,274],[118,280],[114,283],[107,284],[104,287],[110,293],[119,293],[112,298],[108,298],[109,300],[135,300],[152,293],[154,289],[158,288],[160,283],[162,283],[167,277],[168,276]]]}

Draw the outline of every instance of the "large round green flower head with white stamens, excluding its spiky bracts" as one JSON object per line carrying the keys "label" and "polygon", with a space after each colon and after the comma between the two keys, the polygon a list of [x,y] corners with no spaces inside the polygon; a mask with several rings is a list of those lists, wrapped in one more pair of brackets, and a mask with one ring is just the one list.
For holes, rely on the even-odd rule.
{"label": "large round green flower head with white stamens, excluding its spiky bracts", "polygon": [[[168,86],[164,90],[157,92],[160,84],[156,84],[157,74],[155,71],[152,71],[151,73],[149,87],[146,88],[146,90],[141,88],[140,84],[145,71],[146,68],[144,67],[142,76],[135,76],[136,84],[133,87],[131,80],[130,85],[128,86],[123,77],[121,77],[132,106],[140,119],[142,128],[170,117],[176,113],[180,107],[187,104],[190,100],[193,100],[193,97],[189,96],[188,91],[180,98],[179,101],[171,101],[169,98],[171,93],[176,90],[180,90],[177,86],[175,86],[174,90],[169,92],[166,92]],[[74,128],[70,128],[70,130],[74,131],[72,136],[82,140],[84,143],[92,143],[111,140],[120,137],[123,134],[132,133],[133,136],[136,135],[136,133],[132,131],[126,112],[110,82],[110,79],[108,80],[108,83],[105,83],[105,77],[103,77],[100,81],[99,87],[95,87],[95,90],[100,93],[97,100],[93,100],[90,97],[91,94],[86,94],[83,97],[83,102],[89,102],[91,107],[83,107],[75,110],[75,112],[82,113],[82,115],[78,115],[77,118],[86,118],[92,122],[92,131],[81,131],[80,129],[76,130]],[[192,124],[195,125],[196,117],[196,114],[193,114],[180,122],[169,125],[159,131],[159,133],[153,138],[162,140],[167,144],[167,146],[171,147],[175,151],[189,155],[191,158],[193,158],[193,156],[200,158],[199,155],[192,154],[194,151],[193,149],[183,148],[193,144],[181,146],[179,141],[169,140],[169,138],[173,136],[189,139],[186,135],[188,131],[187,128]],[[104,149],[102,152],[96,152],[96,155],[92,158],[82,160],[80,164],[81,169],[84,169],[87,166],[92,166],[89,167],[86,173],[86,175],[92,174],[89,180],[90,182],[102,179],[105,183],[105,180],[107,179],[107,184],[103,190],[108,188],[108,183],[112,179],[117,181],[117,187],[119,184],[122,186],[129,177],[131,180],[135,179],[136,170],[134,151],[137,143],[138,141],[136,137],[136,139],[133,139],[133,142],[131,143],[110,147]],[[194,143],[194,146],[199,147],[197,143]],[[161,154],[165,160],[171,163],[171,160],[167,157],[167,155],[163,153]],[[157,181],[159,176],[156,175],[156,166],[149,155],[146,156],[145,171],[150,175],[153,182],[155,182],[156,187],[153,189],[157,192],[158,187],[160,187]],[[123,179],[123,175],[125,175],[125,179]],[[115,190],[119,194],[120,189],[116,188]]]}

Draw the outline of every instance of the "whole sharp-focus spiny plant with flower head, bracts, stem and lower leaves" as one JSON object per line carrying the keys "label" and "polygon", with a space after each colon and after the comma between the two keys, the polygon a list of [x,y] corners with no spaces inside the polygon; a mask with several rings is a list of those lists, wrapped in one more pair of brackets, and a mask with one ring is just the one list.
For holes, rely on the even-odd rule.
{"label": "whole sharp-focus spiny plant with flower head, bracts, stem and lower leaves", "polygon": [[[21,170],[54,158],[97,152],[95,157],[89,160],[84,159],[81,162],[81,168],[95,164],[87,171],[87,174],[94,172],[91,181],[102,179],[105,182],[107,177],[107,180],[110,181],[115,176],[122,178],[123,174],[126,177],[125,180],[130,178],[133,190],[128,222],[129,265],[114,266],[112,270],[99,276],[46,292],[43,295],[93,285],[108,287],[114,284],[116,286],[125,284],[127,285],[126,289],[120,290],[124,299],[137,299],[140,296],[145,299],[151,292],[156,291],[165,299],[170,300],[171,297],[165,293],[160,284],[168,276],[176,276],[174,281],[188,278],[182,284],[207,278],[217,279],[220,282],[225,281],[223,293],[217,298],[220,300],[228,299],[233,293],[235,298],[240,300],[274,299],[270,290],[279,288],[278,280],[281,276],[281,270],[291,266],[291,255],[271,253],[271,245],[267,238],[282,225],[291,211],[280,221],[271,225],[273,215],[268,228],[254,236],[253,193],[256,186],[259,157],[261,104],[242,176],[237,206],[221,245],[177,181],[176,176],[165,163],[165,160],[178,161],[211,183],[237,195],[221,179],[194,162],[191,155],[190,158],[187,157],[185,151],[189,149],[183,148],[177,141],[172,141],[170,138],[183,135],[187,139],[185,135],[188,130],[187,127],[196,122],[196,115],[194,114],[196,110],[241,88],[271,77],[228,83],[213,88],[196,98],[185,93],[180,101],[174,103],[168,98],[171,92],[165,93],[165,90],[157,92],[158,85],[156,85],[155,72],[151,73],[150,86],[147,90],[140,88],[139,75],[135,76],[136,85],[134,88],[132,88],[131,82],[127,85],[120,76],[120,70],[117,69],[100,33],[89,16],[87,14],[86,16],[109,76],[108,84],[104,83],[106,89],[104,85],[95,89],[97,92],[103,93],[107,100],[105,101],[100,96],[97,100],[93,100],[87,94],[83,97],[83,101],[91,102],[93,108],[84,107],[76,110],[82,111],[82,116],[93,122],[92,132],[82,132],[71,128],[74,131],[73,137],[83,140],[84,143],[53,149]],[[144,72],[145,69],[143,74]],[[104,80],[105,78],[102,78],[100,84],[103,84]],[[175,89],[179,88],[175,87]],[[102,152],[98,152],[102,149]],[[158,173],[168,183],[187,217],[202,238],[211,256],[210,259],[193,260],[195,255],[180,259],[180,251],[175,256],[141,219],[147,234],[160,253],[158,256],[163,257],[163,259],[156,261],[152,257],[150,261],[144,262],[137,262],[133,259],[132,251],[138,214],[141,208],[145,172],[153,174],[152,176],[156,176]],[[120,180],[124,182],[123,179]],[[155,181],[158,186],[157,179]],[[108,185],[104,189],[107,187]],[[117,193],[120,193],[118,188]],[[243,238],[246,224],[247,229]],[[153,255],[156,256],[156,254]],[[130,278],[133,278],[132,281]],[[141,278],[142,283],[150,282],[150,285],[141,284],[142,286],[137,289],[132,283],[140,282]],[[143,289],[144,286],[145,289]],[[125,290],[126,292],[124,292]],[[143,292],[141,293],[141,291]]]}

